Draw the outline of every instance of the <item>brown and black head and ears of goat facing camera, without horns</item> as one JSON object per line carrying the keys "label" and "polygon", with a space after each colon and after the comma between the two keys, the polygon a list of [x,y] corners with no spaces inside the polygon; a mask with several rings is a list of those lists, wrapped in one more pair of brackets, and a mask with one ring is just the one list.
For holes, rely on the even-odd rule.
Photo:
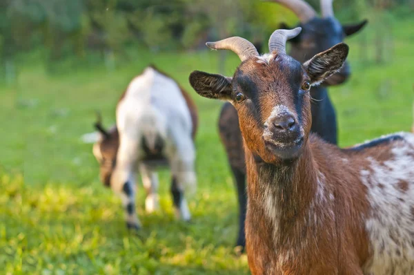
{"label": "brown and black head and ears of goat facing camera, without horns", "polygon": [[199,95],[231,102],[247,148],[265,162],[280,164],[297,158],[307,141],[311,86],[337,72],[347,55],[348,46],[337,44],[300,64],[284,49],[273,50],[244,59],[233,78],[195,71],[190,84]]}

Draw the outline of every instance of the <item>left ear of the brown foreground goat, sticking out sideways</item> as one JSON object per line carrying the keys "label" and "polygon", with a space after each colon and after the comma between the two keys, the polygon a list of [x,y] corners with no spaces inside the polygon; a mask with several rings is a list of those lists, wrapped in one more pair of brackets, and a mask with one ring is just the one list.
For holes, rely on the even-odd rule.
{"label": "left ear of the brown foreground goat, sticking out sideways", "polygon": [[195,70],[190,74],[189,80],[194,90],[202,97],[224,100],[231,98],[233,90],[230,77]]}

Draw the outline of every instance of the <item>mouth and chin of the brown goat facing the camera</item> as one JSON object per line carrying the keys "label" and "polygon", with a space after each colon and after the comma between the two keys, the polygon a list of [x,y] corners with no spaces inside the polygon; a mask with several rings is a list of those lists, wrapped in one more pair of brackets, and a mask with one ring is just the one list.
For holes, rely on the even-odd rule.
{"label": "mouth and chin of the brown goat facing the camera", "polygon": [[272,151],[283,160],[290,160],[299,157],[304,144],[304,137],[300,136],[292,142],[279,142],[276,140],[264,140],[264,144],[269,151]]}

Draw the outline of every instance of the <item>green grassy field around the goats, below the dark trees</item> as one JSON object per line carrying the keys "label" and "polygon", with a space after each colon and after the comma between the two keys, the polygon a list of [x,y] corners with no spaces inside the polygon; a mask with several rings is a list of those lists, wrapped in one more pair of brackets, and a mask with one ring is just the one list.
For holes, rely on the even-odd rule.
{"label": "green grassy field around the goats, below the dark trees", "polygon": [[[331,89],[341,146],[411,128],[414,29],[401,27],[413,23],[395,24],[392,61],[385,64],[360,61],[358,39],[348,40],[353,77]],[[360,35],[369,33],[368,27]],[[237,203],[217,135],[221,103],[197,96],[187,80],[195,69],[217,72],[218,56],[143,52],[112,73],[78,68],[54,77],[32,65],[17,84],[0,87],[1,274],[248,274],[246,255],[233,248]],[[145,214],[139,189],[144,229],[133,235],[119,198],[99,182],[92,146],[80,138],[93,131],[95,109],[106,125],[115,122],[119,95],[149,62],[175,77],[199,107],[199,188],[190,199],[193,222],[176,221],[162,171],[161,211]],[[229,54],[226,73],[238,63]]]}

